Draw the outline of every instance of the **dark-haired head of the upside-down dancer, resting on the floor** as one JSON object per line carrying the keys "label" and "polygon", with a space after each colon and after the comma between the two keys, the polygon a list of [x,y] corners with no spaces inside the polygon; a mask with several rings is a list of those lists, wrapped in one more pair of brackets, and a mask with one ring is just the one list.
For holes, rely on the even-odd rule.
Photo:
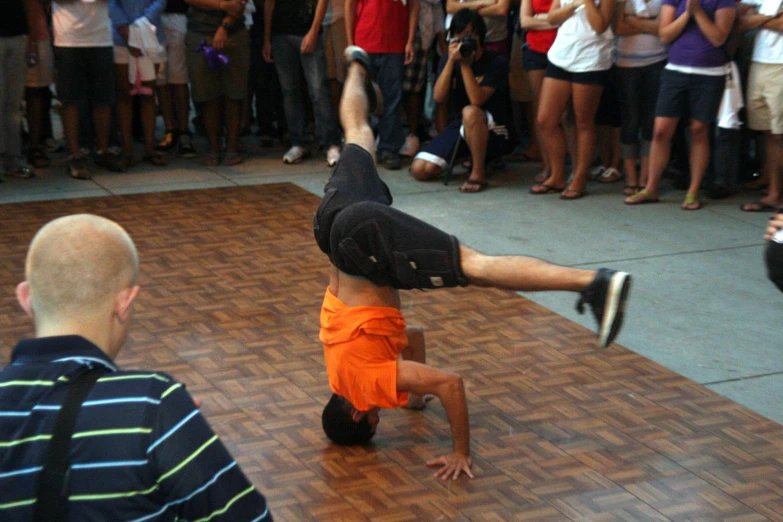
{"label": "dark-haired head of the upside-down dancer, resting on the floor", "polygon": [[345,398],[332,394],[321,414],[324,433],[341,446],[369,444],[380,421],[378,411],[359,411]]}

